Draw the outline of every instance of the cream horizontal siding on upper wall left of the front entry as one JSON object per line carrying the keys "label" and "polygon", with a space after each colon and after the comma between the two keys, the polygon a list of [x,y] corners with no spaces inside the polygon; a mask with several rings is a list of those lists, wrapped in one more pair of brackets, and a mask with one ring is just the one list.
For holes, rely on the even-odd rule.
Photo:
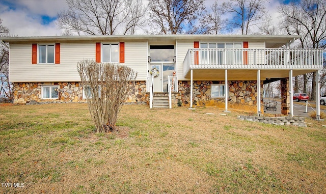
{"label": "cream horizontal siding on upper wall left of the front entry", "polygon": [[[44,43],[45,44],[45,43]],[[10,44],[11,82],[80,81],[77,63],[95,60],[95,42],[61,43],[60,64],[32,64],[32,43]],[[147,42],[125,42],[125,63],[138,72],[136,80],[146,80]]]}

